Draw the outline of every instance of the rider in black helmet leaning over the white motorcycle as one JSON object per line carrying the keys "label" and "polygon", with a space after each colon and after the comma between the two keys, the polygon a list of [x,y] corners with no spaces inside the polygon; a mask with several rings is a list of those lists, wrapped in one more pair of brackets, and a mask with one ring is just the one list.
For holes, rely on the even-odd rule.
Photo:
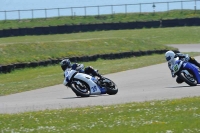
{"label": "rider in black helmet leaning over the white motorcycle", "polygon": [[71,64],[71,61],[69,59],[63,59],[60,62],[60,65],[64,72],[67,68],[71,68],[73,70],[76,70],[77,72],[85,73],[92,76],[98,76],[100,79],[102,79],[102,76],[98,73],[97,70],[94,70],[92,66],[84,68],[83,64],[78,64],[78,63]]}

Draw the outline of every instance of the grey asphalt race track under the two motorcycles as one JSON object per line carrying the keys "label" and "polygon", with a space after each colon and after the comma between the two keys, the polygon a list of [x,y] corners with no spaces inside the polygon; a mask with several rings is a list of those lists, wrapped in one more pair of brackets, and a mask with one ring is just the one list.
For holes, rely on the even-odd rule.
{"label": "grey asphalt race track under the two motorcycles", "polygon": [[[175,47],[178,47],[181,52],[186,52],[182,50],[187,50],[185,48],[187,46],[176,45]],[[200,52],[200,44],[191,45],[188,50]],[[200,56],[196,57],[196,59],[200,62]],[[119,92],[116,95],[78,98],[70,88],[60,84],[18,94],[0,96],[0,113],[200,96],[200,85],[189,87],[185,83],[177,84],[175,78],[171,77],[167,63],[104,76],[112,79],[117,84]]]}

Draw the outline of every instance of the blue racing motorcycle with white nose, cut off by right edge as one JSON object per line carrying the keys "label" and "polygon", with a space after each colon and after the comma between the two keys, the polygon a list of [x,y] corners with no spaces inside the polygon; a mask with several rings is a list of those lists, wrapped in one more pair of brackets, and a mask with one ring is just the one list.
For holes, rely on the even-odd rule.
{"label": "blue racing motorcycle with white nose, cut off by right edge", "polygon": [[172,66],[173,73],[177,75],[183,82],[190,86],[200,84],[200,69],[190,63],[182,60],[176,60]]}

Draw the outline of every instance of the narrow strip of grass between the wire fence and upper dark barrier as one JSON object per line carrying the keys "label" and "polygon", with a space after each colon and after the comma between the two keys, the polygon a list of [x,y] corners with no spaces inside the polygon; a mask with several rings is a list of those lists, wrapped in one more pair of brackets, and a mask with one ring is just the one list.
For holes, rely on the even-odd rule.
{"label": "narrow strip of grass between the wire fence and upper dark barrier", "polygon": [[132,21],[152,21],[160,19],[176,19],[176,18],[194,18],[200,17],[200,11],[197,10],[172,10],[169,12],[154,13],[127,13],[115,15],[101,16],[76,16],[76,17],[57,17],[47,19],[24,19],[24,20],[6,20],[0,21],[0,29],[16,29],[25,27],[45,27],[56,25],[73,25],[88,23],[111,23],[111,22],[132,22]]}

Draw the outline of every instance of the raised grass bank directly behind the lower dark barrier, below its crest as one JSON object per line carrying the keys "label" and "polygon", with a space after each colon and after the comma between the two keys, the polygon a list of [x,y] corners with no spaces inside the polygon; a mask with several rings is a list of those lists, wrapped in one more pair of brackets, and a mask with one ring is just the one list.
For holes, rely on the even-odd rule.
{"label": "raised grass bank directly behind the lower dark barrier, below its crest", "polygon": [[[12,47],[14,46],[14,47]],[[0,62],[11,64],[73,56],[168,49],[147,40],[132,38],[94,39],[85,41],[12,44],[0,46]]]}

